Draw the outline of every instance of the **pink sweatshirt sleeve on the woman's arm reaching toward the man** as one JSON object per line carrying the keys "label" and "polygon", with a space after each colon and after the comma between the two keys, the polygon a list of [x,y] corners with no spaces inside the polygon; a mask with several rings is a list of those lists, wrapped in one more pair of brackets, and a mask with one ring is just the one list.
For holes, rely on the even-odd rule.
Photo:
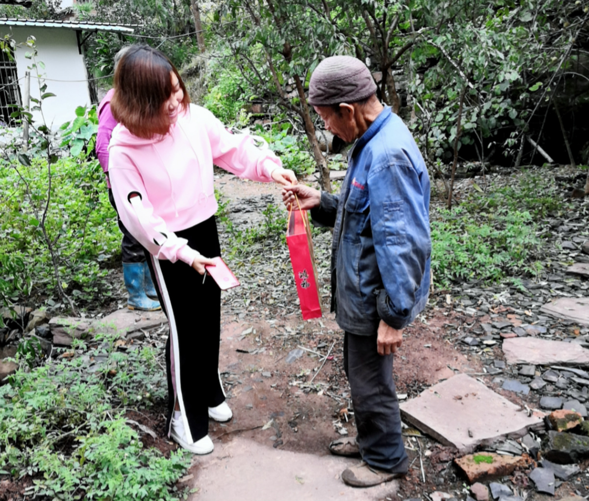
{"label": "pink sweatshirt sleeve on the woman's arm reaching toward the man", "polygon": [[206,115],[205,127],[209,134],[213,163],[226,171],[253,181],[273,181],[272,171],[282,167],[282,162],[273,151],[262,150],[247,134],[231,134],[221,121],[209,110],[201,108]]}

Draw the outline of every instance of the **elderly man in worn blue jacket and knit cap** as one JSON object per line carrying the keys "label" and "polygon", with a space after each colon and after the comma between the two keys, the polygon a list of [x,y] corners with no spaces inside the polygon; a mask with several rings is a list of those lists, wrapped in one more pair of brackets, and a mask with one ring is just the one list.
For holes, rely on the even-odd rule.
{"label": "elderly man in worn blue jacket and knit cap", "polygon": [[348,172],[339,195],[304,185],[283,190],[286,205],[296,194],[316,224],[333,227],[332,311],[345,331],[343,359],[358,436],[329,448],[362,457],[342,473],[357,487],[388,482],[408,469],[393,353],[428,300],[431,254],[425,162],[411,132],[375,92],[359,59],[335,56],[317,66],[309,104],[327,130],[355,141]]}

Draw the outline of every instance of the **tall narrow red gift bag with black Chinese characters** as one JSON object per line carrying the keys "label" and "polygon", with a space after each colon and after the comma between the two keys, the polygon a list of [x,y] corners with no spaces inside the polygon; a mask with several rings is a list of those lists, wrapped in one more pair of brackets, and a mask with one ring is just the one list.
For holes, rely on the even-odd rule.
{"label": "tall narrow red gift bag with black Chinese characters", "polygon": [[294,282],[297,294],[299,294],[303,320],[318,318],[322,315],[321,301],[307,211],[293,211],[291,208],[286,230],[286,243],[289,246],[290,262],[293,265]]}

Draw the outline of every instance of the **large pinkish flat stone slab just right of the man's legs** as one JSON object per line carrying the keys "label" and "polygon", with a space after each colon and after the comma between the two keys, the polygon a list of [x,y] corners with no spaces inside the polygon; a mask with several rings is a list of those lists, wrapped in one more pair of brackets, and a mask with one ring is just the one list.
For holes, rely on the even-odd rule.
{"label": "large pinkish flat stone slab just right of the man's legs", "polygon": [[429,387],[401,404],[403,419],[461,453],[501,437],[518,438],[542,425],[542,417],[525,411],[466,374]]}

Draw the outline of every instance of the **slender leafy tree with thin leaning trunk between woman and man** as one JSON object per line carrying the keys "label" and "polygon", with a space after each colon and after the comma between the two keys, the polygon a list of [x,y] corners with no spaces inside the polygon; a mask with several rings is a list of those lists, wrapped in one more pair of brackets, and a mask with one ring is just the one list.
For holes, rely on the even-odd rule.
{"label": "slender leafy tree with thin leaning trunk between woman and man", "polygon": [[320,184],[329,191],[329,170],[305,91],[322,55],[343,52],[345,37],[327,19],[317,17],[305,0],[224,0],[214,21],[211,29],[226,39],[252,95],[276,102],[302,120]]}

